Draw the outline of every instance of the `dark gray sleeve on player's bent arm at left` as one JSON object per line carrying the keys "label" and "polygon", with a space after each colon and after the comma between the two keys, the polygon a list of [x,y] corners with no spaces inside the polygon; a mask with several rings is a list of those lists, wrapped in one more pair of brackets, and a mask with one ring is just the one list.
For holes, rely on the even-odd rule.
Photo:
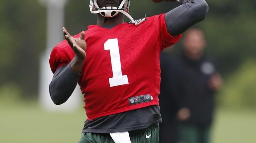
{"label": "dark gray sleeve on player's bent arm at left", "polygon": [[52,82],[50,83],[50,95],[56,105],[66,102],[77,85],[80,75],[76,74],[71,69],[70,65],[71,62],[67,66],[58,68],[54,74]]}

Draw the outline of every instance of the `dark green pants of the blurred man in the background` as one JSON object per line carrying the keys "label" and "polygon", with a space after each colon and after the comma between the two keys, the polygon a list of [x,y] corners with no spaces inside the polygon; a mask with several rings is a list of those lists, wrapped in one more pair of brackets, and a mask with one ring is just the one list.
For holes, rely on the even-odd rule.
{"label": "dark green pants of the blurred man in the background", "polygon": [[209,143],[210,126],[179,126],[179,142],[181,143]]}

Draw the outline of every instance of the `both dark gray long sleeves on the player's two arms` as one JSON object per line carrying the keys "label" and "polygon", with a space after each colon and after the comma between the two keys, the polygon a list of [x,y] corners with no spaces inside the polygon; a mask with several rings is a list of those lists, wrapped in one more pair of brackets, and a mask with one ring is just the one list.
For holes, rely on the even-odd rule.
{"label": "both dark gray long sleeves on the player's two arms", "polygon": [[[204,0],[180,0],[182,5],[166,13],[168,32],[177,36],[189,27],[203,20],[208,5]],[[80,75],[75,74],[70,63],[57,69],[49,86],[50,95],[57,105],[63,104],[74,91]]]}

